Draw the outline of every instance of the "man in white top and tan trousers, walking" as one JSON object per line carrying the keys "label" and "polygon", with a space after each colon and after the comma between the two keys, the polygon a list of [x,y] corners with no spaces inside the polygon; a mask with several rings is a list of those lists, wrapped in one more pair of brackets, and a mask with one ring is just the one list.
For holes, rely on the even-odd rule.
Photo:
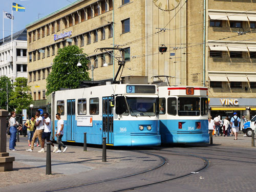
{"label": "man in white top and tan trousers, walking", "polygon": [[42,140],[42,132],[44,131],[44,122],[42,120],[42,117],[40,116],[40,111],[37,110],[35,112],[35,116],[37,117],[36,118],[36,122],[35,122],[35,126],[36,126],[36,130],[34,132],[34,135],[33,135],[33,138],[32,138],[32,142],[31,142],[31,147],[26,150],[27,152],[33,152],[34,150],[34,142],[35,142],[35,139],[38,137],[38,140],[40,142],[40,145],[41,144],[41,140]]}

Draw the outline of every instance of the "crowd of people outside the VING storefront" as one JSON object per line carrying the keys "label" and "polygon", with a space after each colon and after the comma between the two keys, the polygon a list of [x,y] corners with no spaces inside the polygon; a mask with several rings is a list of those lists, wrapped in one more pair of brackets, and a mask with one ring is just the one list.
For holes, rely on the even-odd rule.
{"label": "crowd of people outside the VING storefront", "polygon": [[241,126],[243,128],[244,123],[247,122],[244,115],[242,116],[242,119],[240,119],[236,112],[233,113],[231,118],[226,116],[225,119],[222,120],[220,115],[216,115],[214,119],[210,116],[208,121],[209,134],[212,134],[215,137],[234,136],[234,140],[238,139],[239,127]]}

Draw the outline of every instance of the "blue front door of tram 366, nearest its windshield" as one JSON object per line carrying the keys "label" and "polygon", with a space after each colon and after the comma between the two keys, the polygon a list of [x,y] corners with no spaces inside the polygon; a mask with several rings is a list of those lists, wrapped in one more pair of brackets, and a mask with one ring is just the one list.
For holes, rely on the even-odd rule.
{"label": "blue front door of tram 366, nearest its windshield", "polygon": [[106,137],[107,144],[113,144],[113,108],[110,105],[111,97],[102,98],[102,123],[103,137]]}

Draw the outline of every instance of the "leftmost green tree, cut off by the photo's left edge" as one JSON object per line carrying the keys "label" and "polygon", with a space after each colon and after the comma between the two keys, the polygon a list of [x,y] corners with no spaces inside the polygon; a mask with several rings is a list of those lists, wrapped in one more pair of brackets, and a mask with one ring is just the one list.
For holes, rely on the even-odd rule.
{"label": "leftmost green tree, cut off by the photo's left edge", "polygon": [[[10,81],[10,78],[7,76],[1,76],[0,77],[0,108],[5,109],[7,108],[7,99],[6,99],[6,84],[8,84],[8,95],[10,95],[13,91],[13,86]],[[8,103],[10,102],[10,97],[8,98]],[[12,108],[8,108],[8,111],[13,111]]]}

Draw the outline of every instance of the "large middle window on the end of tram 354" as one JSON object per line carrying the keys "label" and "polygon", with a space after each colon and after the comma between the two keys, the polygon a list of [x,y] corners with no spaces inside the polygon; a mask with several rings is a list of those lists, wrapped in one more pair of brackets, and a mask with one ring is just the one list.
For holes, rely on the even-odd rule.
{"label": "large middle window on the end of tram 354", "polygon": [[198,97],[179,97],[178,98],[179,116],[199,116],[200,98]]}

